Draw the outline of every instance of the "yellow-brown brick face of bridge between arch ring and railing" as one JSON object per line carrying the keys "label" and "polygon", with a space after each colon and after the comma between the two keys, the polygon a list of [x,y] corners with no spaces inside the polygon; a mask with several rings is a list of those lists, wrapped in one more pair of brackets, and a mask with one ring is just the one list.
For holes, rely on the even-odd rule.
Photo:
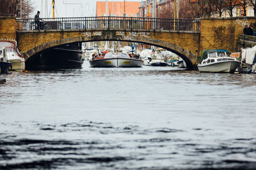
{"label": "yellow-brown brick face of bridge between arch ring and railing", "polygon": [[[83,31],[84,32],[84,31]],[[52,32],[26,32],[18,33],[17,39],[21,52],[26,52],[27,50],[34,48],[35,46],[42,45],[43,43],[48,43],[50,41],[55,41],[58,39],[68,39],[83,36],[81,31],[52,31]],[[87,31],[88,32],[88,31]],[[93,31],[90,31],[93,32]],[[125,32],[129,34],[129,31]],[[150,38],[159,39],[167,41],[168,43],[173,43],[175,45],[182,46],[186,50],[197,54],[199,50],[199,33],[179,33],[179,32],[150,32]]]}

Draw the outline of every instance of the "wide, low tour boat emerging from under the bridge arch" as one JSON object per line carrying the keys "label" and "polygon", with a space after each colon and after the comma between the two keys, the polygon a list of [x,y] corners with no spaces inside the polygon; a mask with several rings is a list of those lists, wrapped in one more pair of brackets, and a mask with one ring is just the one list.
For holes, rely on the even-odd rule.
{"label": "wide, low tour boat emerging from under the bridge arch", "polygon": [[143,60],[131,58],[127,53],[106,53],[103,58],[90,60],[91,67],[141,67]]}

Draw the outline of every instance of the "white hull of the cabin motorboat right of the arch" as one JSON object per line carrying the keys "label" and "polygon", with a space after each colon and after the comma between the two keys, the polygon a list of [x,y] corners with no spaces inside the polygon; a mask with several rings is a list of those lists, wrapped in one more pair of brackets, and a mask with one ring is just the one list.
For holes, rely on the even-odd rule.
{"label": "white hull of the cabin motorboat right of the arch", "polygon": [[207,65],[198,64],[198,71],[200,72],[212,72],[212,73],[234,73],[237,67],[240,65],[239,61],[222,61],[215,62]]}

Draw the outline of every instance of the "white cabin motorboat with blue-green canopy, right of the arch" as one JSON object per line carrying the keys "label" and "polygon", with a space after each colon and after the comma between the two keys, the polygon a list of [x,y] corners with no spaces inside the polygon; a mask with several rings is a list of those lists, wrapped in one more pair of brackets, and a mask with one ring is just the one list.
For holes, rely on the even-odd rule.
{"label": "white cabin motorboat with blue-green canopy, right of the arch", "polygon": [[240,62],[230,57],[227,50],[203,50],[200,64],[197,65],[200,72],[234,73]]}

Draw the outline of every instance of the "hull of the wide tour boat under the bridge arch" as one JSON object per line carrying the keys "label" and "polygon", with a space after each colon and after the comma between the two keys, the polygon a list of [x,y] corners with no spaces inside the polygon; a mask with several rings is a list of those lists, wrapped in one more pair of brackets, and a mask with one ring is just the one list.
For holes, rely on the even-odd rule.
{"label": "hull of the wide tour boat under the bridge arch", "polygon": [[141,67],[142,65],[143,60],[138,59],[110,58],[90,60],[91,67]]}

